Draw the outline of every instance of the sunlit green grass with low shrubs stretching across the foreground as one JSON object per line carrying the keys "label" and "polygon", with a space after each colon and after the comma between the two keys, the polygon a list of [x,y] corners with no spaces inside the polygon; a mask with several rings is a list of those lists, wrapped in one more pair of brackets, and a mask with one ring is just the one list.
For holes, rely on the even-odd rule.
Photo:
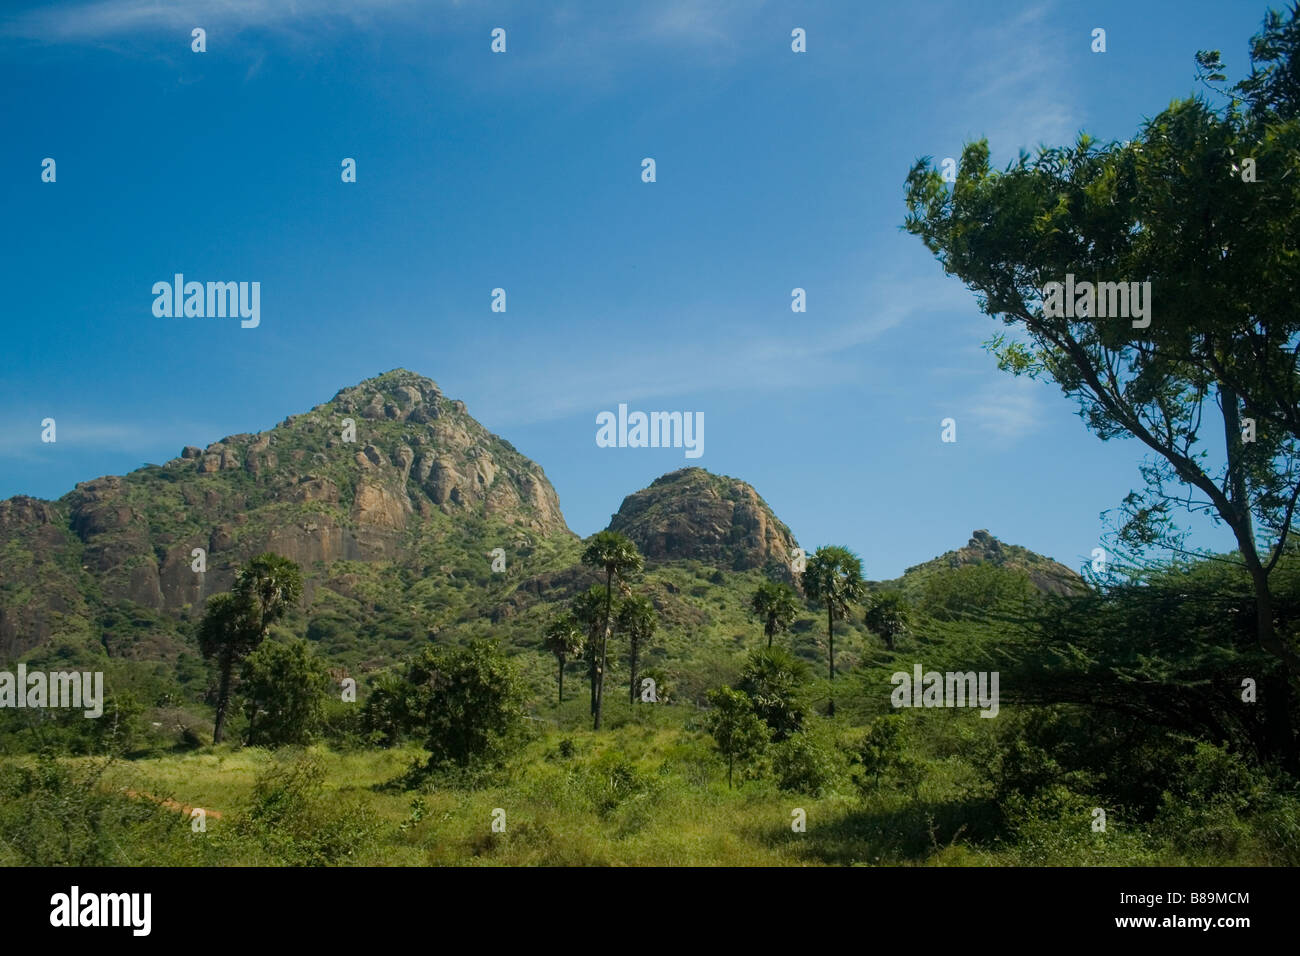
{"label": "sunlit green grass with low shrubs stretching across the foreground", "polygon": [[[585,698],[575,695],[545,721],[530,722],[537,730],[510,766],[477,784],[433,782],[407,788],[402,783],[406,771],[424,757],[411,745],[278,753],[221,745],[117,761],[95,780],[96,799],[112,803],[118,816],[126,812],[125,803],[147,819],[104,825],[107,849],[96,861],[399,866],[1294,862],[1294,805],[1282,817],[1264,818],[1262,825],[1231,814],[1218,818],[1216,827],[1227,839],[1213,852],[1179,849],[1175,834],[1158,825],[1130,827],[1118,812],[1106,832],[1093,832],[1088,801],[1078,795],[1026,810],[1009,826],[980,769],[961,753],[962,740],[968,743],[968,735],[980,731],[971,723],[978,719],[974,715],[937,715],[944,723],[936,719],[931,727],[927,739],[932,743],[920,757],[923,775],[914,792],[887,782],[863,793],[841,775],[829,792],[814,797],[779,791],[770,773],[738,780],[729,790],[725,766],[696,726],[693,706],[638,705],[633,710],[625,700],[611,700],[608,726],[599,734],[582,728],[585,709]],[[832,735],[853,731],[835,722],[826,722],[824,730]],[[35,762],[34,757],[13,758],[0,773],[12,775],[16,767]],[[60,765],[75,779],[86,779],[77,774],[101,761],[64,758]],[[320,767],[317,784],[294,791],[296,796],[272,791],[259,804],[260,779],[309,765]],[[207,832],[192,832],[183,813],[143,796],[127,797],[126,791],[204,808],[209,812]],[[48,801],[56,792],[40,799]],[[413,812],[415,801],[419,812]],[[504,831],[493,830],[498,809],[504,810]],[[806,816],[805,832],[790,826],[797,809]],[[84,816],[87,810],[78,805],[68,813]],[[34,819],[17,806],[0,813],[0,865],[25,862],[12,838],[23,832],[14,827],[30,827]],[[1277,830],[1279,819],[1290,827],[1287,834]],[[1292,845],[1279,849],[1279,840]]]}

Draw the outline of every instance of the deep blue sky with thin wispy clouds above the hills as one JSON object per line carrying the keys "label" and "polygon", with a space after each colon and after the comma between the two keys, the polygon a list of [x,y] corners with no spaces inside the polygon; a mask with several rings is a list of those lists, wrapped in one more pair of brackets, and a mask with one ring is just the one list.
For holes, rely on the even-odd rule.
{"label": "deep blue sky with thin wispy clouds above the hills", "polygon": [[[701,464],[870,578],[975,528],[1078,568],[1141,449],[997,371],[980,343],[1000,325],[900,229],[904,178],[982,135],[1000,164],[1078,130],[1126,139],[1195,91],[1196,49],[1240,75],[1264,10],[6,4],[0,497],[58,497],[406,367],[537,460],[580,535]],[[176,272],[261,282],[260,326],[156,319]],[[597,447],[620,402],[703,412],[705,455]]]}

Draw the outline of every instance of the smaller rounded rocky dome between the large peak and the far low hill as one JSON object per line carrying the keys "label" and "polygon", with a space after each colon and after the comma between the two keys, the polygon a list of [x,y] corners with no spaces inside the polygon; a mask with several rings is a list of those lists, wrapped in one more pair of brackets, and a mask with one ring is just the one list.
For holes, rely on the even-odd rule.
{"label": "smaller rounded rocky dome between the large peak and the far low hill", "polygon": [[649,561],[693,558],[736,571],[788,575],[798,546],[750,485],[703,468],[671,472],[629,494],[610,531],[632,538]]}

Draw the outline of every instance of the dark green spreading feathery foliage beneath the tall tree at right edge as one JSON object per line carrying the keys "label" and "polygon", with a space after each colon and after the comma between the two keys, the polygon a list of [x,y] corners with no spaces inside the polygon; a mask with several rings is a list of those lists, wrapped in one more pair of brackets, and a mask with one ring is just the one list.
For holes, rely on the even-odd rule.
{"label": "dark green spreading feathery foliage beneath the tall tree at right edge", "polygon": [[[1279,631],[1294,630],[1300,622],[1300,558],[1279,562],[1273,598]],[[1008,631],[992,666],[1022,701],[1084,708],[1087,727],[1072,736],[1098,743],[1079,744],[1080,760],[1088,754],[1096,773],[1127,780],[1117,796],[1149,808],[1167,761],[1126,769],[1106,754],[1149,752],[1145,735],[1152,731],[1227,743],[1270,762],[1288,760],[1300,702],[1282,666],[1258,645],[1253,604],[1249,576],[1227,562],[1153,571],[1048,602],[1030,628]],[[1245,676],[1269,706],[1244,705]],[[1050,747],[1063,743],[1053,739]]]}

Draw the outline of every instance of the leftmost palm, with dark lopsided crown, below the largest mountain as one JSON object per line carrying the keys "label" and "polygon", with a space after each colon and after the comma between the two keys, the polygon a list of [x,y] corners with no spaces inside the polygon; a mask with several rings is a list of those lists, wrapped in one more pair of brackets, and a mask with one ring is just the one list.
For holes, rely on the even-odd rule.
{"label": "leftmost palm, with dark lopsided crown, below the largest mountain", "polygon": [[212,727],[213,744],[221,743],[225,731],[234,665],[265,640],[270,626],[298,602],[302,593],[303,579],[298,564],[268,551],[239,570],[231,593],[208,600],[199,623],[199,650],[205,658],[217,658],[221,675],[217,718]]}

